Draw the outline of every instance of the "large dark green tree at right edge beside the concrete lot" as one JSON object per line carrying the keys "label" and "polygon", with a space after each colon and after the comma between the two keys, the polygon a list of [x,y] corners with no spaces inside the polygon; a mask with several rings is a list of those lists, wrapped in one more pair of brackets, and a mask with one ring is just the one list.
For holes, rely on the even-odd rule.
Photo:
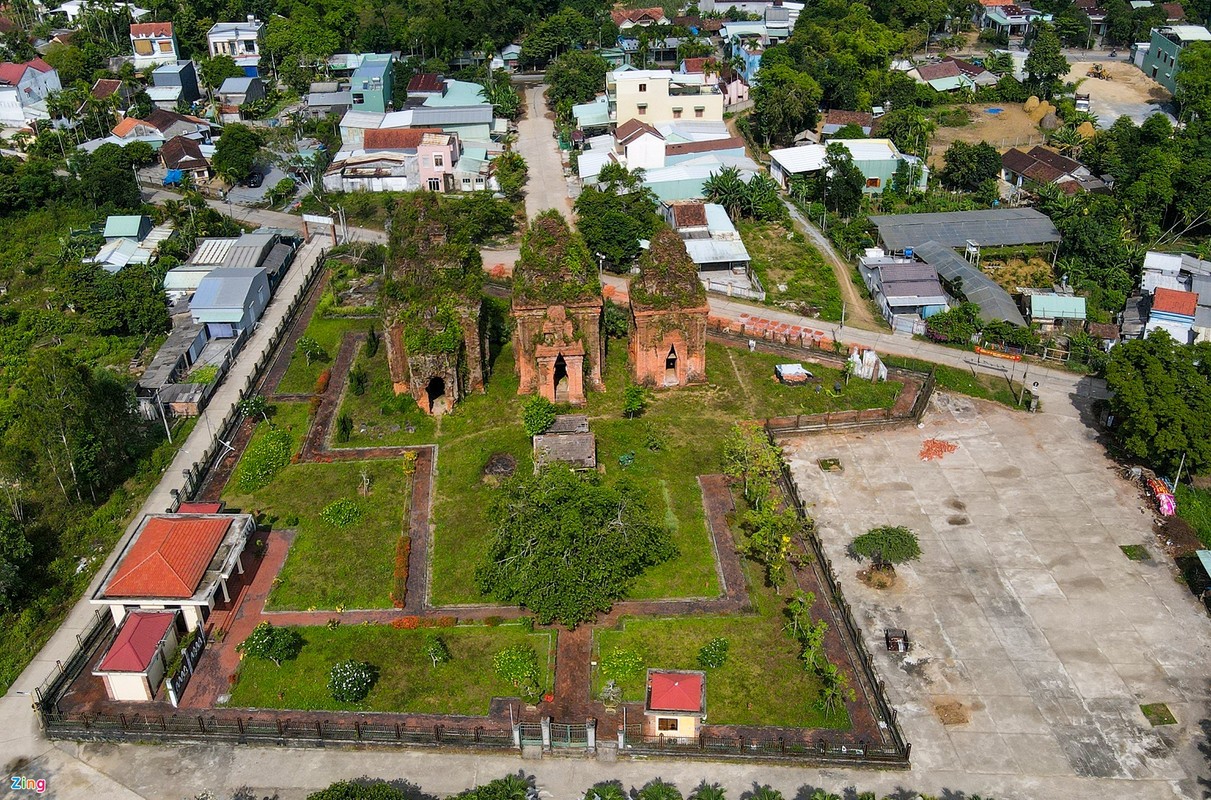
{"label": "large dark green tree at right edge beside the concrete lot", "polygon": [[1114,436],[1132,456],[1172,473],[1186,456],[1196,473],[1211,466],[1211,344],[1182,345],[1164,330],[1110,350]]}

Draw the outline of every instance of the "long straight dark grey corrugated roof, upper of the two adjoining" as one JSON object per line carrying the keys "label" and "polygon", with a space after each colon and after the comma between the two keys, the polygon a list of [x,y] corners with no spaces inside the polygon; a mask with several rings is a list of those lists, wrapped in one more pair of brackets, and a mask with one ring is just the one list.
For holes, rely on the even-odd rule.
{"label": "long straight dark grey corrugated roof, upper of the two adjoining", "polygon": [[968,240],[987,247],[1060,241],[1060,231],[1051,219],[1033,208],[876,214],[871,221],[879,229],[884,246],[891,251],[919,247],[925,242],[955,248],[965,247]]}

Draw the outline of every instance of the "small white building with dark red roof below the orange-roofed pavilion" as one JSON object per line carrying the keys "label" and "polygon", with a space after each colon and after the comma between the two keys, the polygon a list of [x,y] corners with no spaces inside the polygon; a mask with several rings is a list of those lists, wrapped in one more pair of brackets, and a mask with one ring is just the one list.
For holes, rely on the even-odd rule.
{"label": "small white building with dark red roof below the orange-roofed pavilion", "polygon": [[92,674],[110,700],[150,702],[177,648],[177,611],[131,611]]}

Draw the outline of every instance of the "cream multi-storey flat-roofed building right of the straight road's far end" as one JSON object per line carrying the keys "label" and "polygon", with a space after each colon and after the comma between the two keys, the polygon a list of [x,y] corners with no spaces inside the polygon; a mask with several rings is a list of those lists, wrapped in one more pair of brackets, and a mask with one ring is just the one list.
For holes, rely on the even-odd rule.
{"label": "cream multi-storey flat-roofed building right of the straight road's far end", "polygon": [[667,69],[614,70],[606,76],[610,117],[655,123],[667,120],[723,121],[723,93],[702,75]]}

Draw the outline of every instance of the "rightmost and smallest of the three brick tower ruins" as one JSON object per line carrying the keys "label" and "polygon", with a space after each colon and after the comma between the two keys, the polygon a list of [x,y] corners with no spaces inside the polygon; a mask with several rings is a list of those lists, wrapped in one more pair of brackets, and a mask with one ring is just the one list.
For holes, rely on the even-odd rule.
{"label": "rightmost and smallest of the three brick tower ruins", "polygon": [[671,228],[656,231],[639,257],[630,295],[635,382],[653,389],[706,382],[706,289]]}

